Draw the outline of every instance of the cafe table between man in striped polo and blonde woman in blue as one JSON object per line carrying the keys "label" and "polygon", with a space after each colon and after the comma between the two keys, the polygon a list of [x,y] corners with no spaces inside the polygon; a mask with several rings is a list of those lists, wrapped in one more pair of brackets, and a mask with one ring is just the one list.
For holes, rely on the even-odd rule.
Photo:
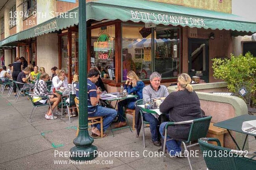
{"label": "cafe table between man in striped polo and blonde woman in blue", "polygon": [[[115,110],[116,110],[117,102],[119,102],[119,101],[121,101],[121,100],[124,100],[124,99],[132,99],[132,98],[135,98],[135,97],[137,97],[137,95],[131,95],[131,94],[129,94],[129,95],[127,95],[127,97],[117,97],[117,95],[115,95],[115,94],[107,93],[107,94],[101,94],[101,95],[100,95],[100,100],[101,100],[102,102],[104,102],[104,101],[108,102],[107,105],[106,105],[106,103],[105,103],[105,107],[112,108],[112,109],[115,109]],[[111,105],[111,102],[112,102],[112,101],[117,101],[116,104],[115,104],[115,107],[113,107],[113,106]],[[124,118],[126,119],[126,117],[124,117]],[[126,119],[126,121],[127,121],[127,119]],[[124,129],[124,128],[130,128],[130,130],[131,130],[131,132],[132,132],[132,129],[131,129],[131,127],[130,127],[128,121],[127,121],[127,123],[128,123],[128,126],[123,126],[123,127],[121,127],[121,128],[115,128],[115,129],[112,129],[112,127],[111,127],[111,125],[110,125],[110,128],[111,128],[111,131],[112,131],[113,136],[114,136],[113,131],[120,130],[120,129]]]}

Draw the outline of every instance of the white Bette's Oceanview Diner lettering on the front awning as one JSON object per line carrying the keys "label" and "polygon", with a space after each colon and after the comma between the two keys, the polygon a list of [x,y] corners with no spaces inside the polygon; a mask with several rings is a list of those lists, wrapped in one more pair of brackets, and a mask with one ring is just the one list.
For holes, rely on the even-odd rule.
{"label": "white Bette's Oceanview Diner lettering on the front awning", "polygon": [[205,26],[204,19],[196,17],[186,17],[179,15],[168,15],[160,13],[149,13],[130,10],[132,19],[145,20],[145,22],[165,22],[170,24],[185,24],[195,26]]}

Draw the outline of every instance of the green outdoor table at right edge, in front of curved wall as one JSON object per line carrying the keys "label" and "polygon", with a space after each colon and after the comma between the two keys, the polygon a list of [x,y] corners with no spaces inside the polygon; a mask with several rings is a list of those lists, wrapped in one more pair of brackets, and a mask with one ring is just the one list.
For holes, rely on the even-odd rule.
{"label": "green outdoor table at right edge, in front of curved wall", "polygon": [[[254,138],[256,139],[256,134],[252,134],[252,133],[248,133],[248,132],[243,132],[242,130],[242,124],[245,121],[252,121],[252,120],[256,120],[256,116],[254,115],[241,115],[241,116],[237,116],[234,117],[232,119],[228,119],[226,121],[221,121],[218,123],[213,124],[213,126],[217,126],[219,128],[225,128],[228,130],[229,135],[231,136],[232,140],[234,141],[234,143],[236,144],[237,148],[240,150],[238,144],[236,143],[236,140],[234,139],[234,137],[231,135],[230,130],[235,131],[235,132],[239,132],[239,133],[243,133],[246,134],[245,137],[245,141],[243,143],[243,149],[245,147],[245,143],[247,140],[248,135],[252,135],[254,136]],[[243,150],[242,149],[242,150]]]}

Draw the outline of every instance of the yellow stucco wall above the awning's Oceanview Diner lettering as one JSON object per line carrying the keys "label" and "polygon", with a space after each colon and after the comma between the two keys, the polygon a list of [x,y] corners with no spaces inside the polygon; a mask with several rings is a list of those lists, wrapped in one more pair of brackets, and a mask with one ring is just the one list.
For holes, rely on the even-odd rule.
{"label": "yellow stucco wall above the awning's Oceanview Diner lettering", "polygon": [[169,4],[182,5],[193,8],[208,9],[223,13],[231,13],[231,0],[151,0]]}

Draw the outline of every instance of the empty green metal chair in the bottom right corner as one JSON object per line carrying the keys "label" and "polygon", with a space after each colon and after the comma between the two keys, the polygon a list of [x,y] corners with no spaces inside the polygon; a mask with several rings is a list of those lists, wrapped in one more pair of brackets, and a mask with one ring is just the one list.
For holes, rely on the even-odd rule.
{"label": "empty green metal chair in the bottom right corner", "polygon": [[[208,141],[215,141],[218,146],[207,143]],[[216,138],[201,138],[198,140],[198,143],[204,155],[207,169],[256,170],[256,160],[248,158],[249,156],[255,157],[255,152],[245,152],[221,147],[219,139]]]}

